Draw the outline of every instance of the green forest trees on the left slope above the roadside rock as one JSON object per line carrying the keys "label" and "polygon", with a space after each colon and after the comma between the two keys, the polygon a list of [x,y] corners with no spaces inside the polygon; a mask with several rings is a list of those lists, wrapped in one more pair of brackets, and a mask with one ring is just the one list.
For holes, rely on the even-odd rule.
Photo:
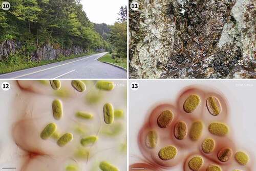
{"label": "green forest trees on the left slope above the roadside rock", "polygon": [[[0,1],[1,3],[3,1]],[[0,42],[26,42],[28,50],[51,43],[61,48],[79,45],[84,49],[109,48],[94,29],[80,1],[9,0],[9,11],[0,11]]]}

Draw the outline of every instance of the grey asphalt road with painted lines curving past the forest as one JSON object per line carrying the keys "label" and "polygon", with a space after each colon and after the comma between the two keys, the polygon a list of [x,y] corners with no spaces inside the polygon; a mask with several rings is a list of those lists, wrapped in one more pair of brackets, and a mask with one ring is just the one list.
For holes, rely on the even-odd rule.
{"label": "grey asphalt road with painted lines curving past the forest", "polygon": [[99,62],[106,53],[69,59],[0,75],[0,79],[126,79],[126,71]]}

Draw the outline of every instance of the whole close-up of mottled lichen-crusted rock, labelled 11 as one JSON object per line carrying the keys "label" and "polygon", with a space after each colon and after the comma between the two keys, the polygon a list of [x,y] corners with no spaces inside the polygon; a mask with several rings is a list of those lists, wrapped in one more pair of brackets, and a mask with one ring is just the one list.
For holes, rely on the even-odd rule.
{"label": "whole close-up of mottled lichen-crusted rock, labelled 11", "polygon": [[256,78],[255,1],[137,2],[130,78]]}

